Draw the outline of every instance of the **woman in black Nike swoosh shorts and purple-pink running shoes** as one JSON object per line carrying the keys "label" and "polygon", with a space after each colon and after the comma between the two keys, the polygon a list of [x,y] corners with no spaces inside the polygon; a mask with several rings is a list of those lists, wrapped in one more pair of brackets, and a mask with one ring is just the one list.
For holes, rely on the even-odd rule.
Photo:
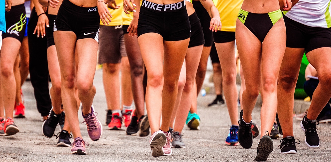
{"label": "woman in black Nike swoosh shorts and purple-pink running shoes", "polygon": [[[56,0],[50,2],[51,7],[58,5]],[[64,0],[55,19],[54,42],[61,71],[62,104],[69,116],[69,125],[75,139],[71,154],[86,154],[85,145],[87,145],[79,129],[74,94],[76,85],[82,103],[82,115],[91,140],[99,140],[102,134],[102,124],[96,118],[92,102],[95,95],[93,78],[97,63],[99,22],[100,18],[103,22],[105,19],[110,21],[110,13],[105,3],[108,2]],[[77,71],[75,51],[78,57]]]}

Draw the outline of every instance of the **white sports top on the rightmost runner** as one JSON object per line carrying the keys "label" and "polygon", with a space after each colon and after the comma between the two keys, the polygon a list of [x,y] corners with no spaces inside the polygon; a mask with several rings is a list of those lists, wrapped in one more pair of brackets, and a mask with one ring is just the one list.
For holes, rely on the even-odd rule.
{"label": "white sports top on the rightmost runner", "polygon": [[331,0],[300,0],[290,11],[284,11],[286,17],[311,27],[331,27]]}

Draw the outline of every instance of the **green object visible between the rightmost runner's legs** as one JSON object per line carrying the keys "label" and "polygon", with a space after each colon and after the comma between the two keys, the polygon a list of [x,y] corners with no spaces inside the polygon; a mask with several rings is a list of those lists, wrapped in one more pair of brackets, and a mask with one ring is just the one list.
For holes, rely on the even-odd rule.
{"label": "green object visible between the rightmost runner's legs", "polygon": [[306,67],[308,64],[309,64],[309,62],[307,60],[306,53],[305,53],[304,57],[302,58],[302,61],[301,61],[298,82],[295,86],[294,98],[296,98],[296,99],[304,99],[308,96],[304,90],[304,83],[306,81],[305,71],[306,71]]}

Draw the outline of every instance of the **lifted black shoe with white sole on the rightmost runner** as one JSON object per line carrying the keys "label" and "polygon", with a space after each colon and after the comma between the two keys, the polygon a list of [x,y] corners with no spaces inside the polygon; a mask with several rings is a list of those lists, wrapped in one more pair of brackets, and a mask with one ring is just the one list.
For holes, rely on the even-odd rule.
{"label": "lifted black shoe with white sole on the rightmost runner", "polygon": [[319,122],[317,120],[309,120],[307,119],[307,114],[302,119],[300,125],[301,129],[306,133],[306,144],[310,148],[318,148],[319,147],[319,137],[317,134],[317,128],[316,125],[318,125]]}

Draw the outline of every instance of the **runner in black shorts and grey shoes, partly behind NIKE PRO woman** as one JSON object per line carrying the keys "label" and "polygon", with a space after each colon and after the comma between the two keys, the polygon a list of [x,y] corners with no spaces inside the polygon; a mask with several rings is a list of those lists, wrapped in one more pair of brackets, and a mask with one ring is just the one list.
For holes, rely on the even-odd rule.
{"label": "runner in black shorts and grey shoes, partly behind NIKE PRO woman", "polygon": [[[206,7],[208,13],[210,13],[210,15],[212,16],[209,30],[211,30],[212,32],[217,31],[221,28],[221,21],[218,10],[214,6],[212,0],[206,0],[202,3]],[[187,14],[189,15],[189,20],[191,23],[191,39],[185,56],[185,63],[182,67],[183,70],[181,71],[179,77],[182,78],[182,76],[184,76],[186,79],[184,80],[184,86],[182,87],[182,89],[178,90],[179,95],[177,96],[174,112],[172,113],[172,120],[169,125],[171,128],[173,128],[174,131],[171,135],[171,147],[176,148],[185,148],[185,144],[181,140],[181,132],[184,128],[185,123],[188,124],[188,126],[194,127],[195,129],[199,128],[198,123],[200,123],[199,119],[192,118],[192,121],[187,121],[186,118],[192,105],[193,94],[196,94],[196,91],[193,90],[193,86],[205,40],[202,26],[197,14],[195,13],[193,4],[186,3],[186,6]]]}

